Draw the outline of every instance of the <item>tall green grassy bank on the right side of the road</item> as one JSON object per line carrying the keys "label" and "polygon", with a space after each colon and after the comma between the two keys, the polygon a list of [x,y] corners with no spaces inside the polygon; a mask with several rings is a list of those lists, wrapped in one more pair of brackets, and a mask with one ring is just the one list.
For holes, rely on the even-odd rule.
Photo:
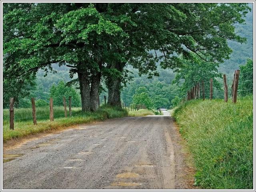
{"label": "tall green grassy bank on the right side of the road", "polygon": [[176,108],[173,116],[194,157],[196,185],[253,188],[252,101],[193,100]]}

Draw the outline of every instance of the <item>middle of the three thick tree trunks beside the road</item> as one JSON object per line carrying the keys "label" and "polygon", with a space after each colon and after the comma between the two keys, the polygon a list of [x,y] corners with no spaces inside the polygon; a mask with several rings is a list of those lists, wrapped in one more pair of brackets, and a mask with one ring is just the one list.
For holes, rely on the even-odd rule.
{"label": "middle of the three thick tree trunks beside the road", "polygon": [[100,78],[101,73],[97,72],[96,74],[92,74],[92,82],[91,82],[91,111],[96,111],[99,108],[98,104],[98,96],[99,96],[99,88],[100,88]]}

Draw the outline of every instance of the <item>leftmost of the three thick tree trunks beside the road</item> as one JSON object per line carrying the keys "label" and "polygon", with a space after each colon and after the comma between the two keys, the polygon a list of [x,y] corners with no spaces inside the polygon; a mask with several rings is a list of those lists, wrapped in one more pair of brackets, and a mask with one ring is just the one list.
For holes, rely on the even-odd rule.
{"label": "leftmost of the three thick tree trunks beside the road", "polygon": [[82,111],[90,111],[90,81],[84,73],[78,73]]}

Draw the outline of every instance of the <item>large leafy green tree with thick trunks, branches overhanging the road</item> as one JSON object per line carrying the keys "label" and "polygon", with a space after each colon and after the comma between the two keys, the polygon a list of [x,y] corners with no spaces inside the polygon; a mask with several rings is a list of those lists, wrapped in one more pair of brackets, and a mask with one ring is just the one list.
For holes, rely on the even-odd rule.
{"label": "large leafy green tree with thick trunks, branches overhanging the road", "polygon": [[234,24],[248,10],[242,3],[4,4],[4,79],[22,82],[58,63],[71,77],[78,73],[83,110],[97,109],[102,76],[108,102],[120,106],[127,63],[151,77],[156,61],[174,68],[180,54],[222,62],[231,52],[227,39],[244,42]]}

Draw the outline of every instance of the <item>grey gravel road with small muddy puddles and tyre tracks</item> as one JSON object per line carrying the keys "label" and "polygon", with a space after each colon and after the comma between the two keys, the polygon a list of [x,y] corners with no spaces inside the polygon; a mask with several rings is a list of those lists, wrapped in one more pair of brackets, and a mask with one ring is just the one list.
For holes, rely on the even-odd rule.
{"label": "grey gravel road with small muddy puddles and tyre tracks", "polygon": [[185,188],[179,141],[166,113],[80,125],[5,148],[3,188]]}

